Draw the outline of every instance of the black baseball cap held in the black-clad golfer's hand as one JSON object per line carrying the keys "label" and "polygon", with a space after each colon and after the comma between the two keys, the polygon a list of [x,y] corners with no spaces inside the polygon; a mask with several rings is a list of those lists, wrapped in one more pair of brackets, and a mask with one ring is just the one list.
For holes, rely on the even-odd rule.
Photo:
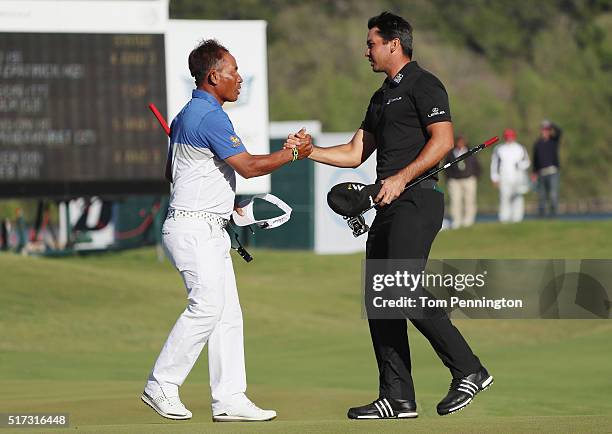
{"label": "black baseball cap held in the black-clad golfer's hand", "polygon": [[327,204],[341,216],[355,217],[375,205],[374,199],[381,188],[381,183],[366,185],[359,182],[343,182],[334,185],[327,193]]}

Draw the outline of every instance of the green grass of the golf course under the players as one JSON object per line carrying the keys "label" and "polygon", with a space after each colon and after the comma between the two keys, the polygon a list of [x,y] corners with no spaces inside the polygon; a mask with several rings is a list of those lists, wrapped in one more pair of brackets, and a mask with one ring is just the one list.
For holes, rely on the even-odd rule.
{"label": "green grass of the golf course under the players", "polygon": [[[234,258],[248,394],[276,409],[276,421],[213,424],[205,354],[181,389],[192,420],[166,421],[140,402],[185,304],[178,273],[153,249],[0,255],[0,413],[69,413],[67,431],[85,433],[612,431],[612,321],[605,320],[456,321],[495,384],[444,418],[435,406],[448,371],[410,327],[419,418],[349,421],[348,407],[377,396],[360,316],[361,255],[253,253],[251,264]],[[432,257],[612,258],[612,222],[482,224],[441,233]],[[31,432],[41,431],[51,432]]]}

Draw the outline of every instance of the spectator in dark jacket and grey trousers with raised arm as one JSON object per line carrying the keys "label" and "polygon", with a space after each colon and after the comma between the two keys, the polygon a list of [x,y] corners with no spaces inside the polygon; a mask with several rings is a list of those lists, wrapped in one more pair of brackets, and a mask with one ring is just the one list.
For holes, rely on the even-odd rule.
{"label": "spectator in dark jacket and grey trousers with raised arm", "polygon": [[538,214],[554,217],[559,207],[559,141],[561,128],[548,120],[533,145],[533,173],[538,180]]}

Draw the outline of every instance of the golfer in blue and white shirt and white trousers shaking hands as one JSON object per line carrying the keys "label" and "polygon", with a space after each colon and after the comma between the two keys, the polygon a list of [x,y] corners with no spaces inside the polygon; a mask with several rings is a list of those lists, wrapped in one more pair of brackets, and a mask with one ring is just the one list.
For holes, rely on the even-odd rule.
{"label": "golfer in blue and white shirt and white trousers shaking hands", "polygon": [[249,154],[222,108],[240,93],[234,57],[207,40],[189,55],[189,69],[197,89],[172,122],[166,170],[172,193],[162,229],[188,304],[155,362],[142,400],[166,418],[191,418],[179,387],[208,342],[213,420],[270,420],[276,412],[258,408],[245,395],[242,312],[224,227],[234,209],[236,171],[244,178],[269,174],[307,157],[312,140],[302,133],[288,139],[288,149]]}

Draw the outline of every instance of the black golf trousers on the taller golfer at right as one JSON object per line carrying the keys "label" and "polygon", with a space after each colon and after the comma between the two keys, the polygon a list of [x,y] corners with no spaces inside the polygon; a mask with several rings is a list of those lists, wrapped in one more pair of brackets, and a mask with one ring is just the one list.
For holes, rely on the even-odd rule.
{"label": "black golf trousers on the taller golfer at right", "polygon": [[[444,194],[413,188],[379,210],[369,232],[367,259],[420,259],[429,256],[442,226]],[[427,338],[453,378],[481,368],[478,357],[442,309],[427,319],[410,319]],[[380,373],[380,397],[414,400],[410,346],[405,319],[369,319]]]}

